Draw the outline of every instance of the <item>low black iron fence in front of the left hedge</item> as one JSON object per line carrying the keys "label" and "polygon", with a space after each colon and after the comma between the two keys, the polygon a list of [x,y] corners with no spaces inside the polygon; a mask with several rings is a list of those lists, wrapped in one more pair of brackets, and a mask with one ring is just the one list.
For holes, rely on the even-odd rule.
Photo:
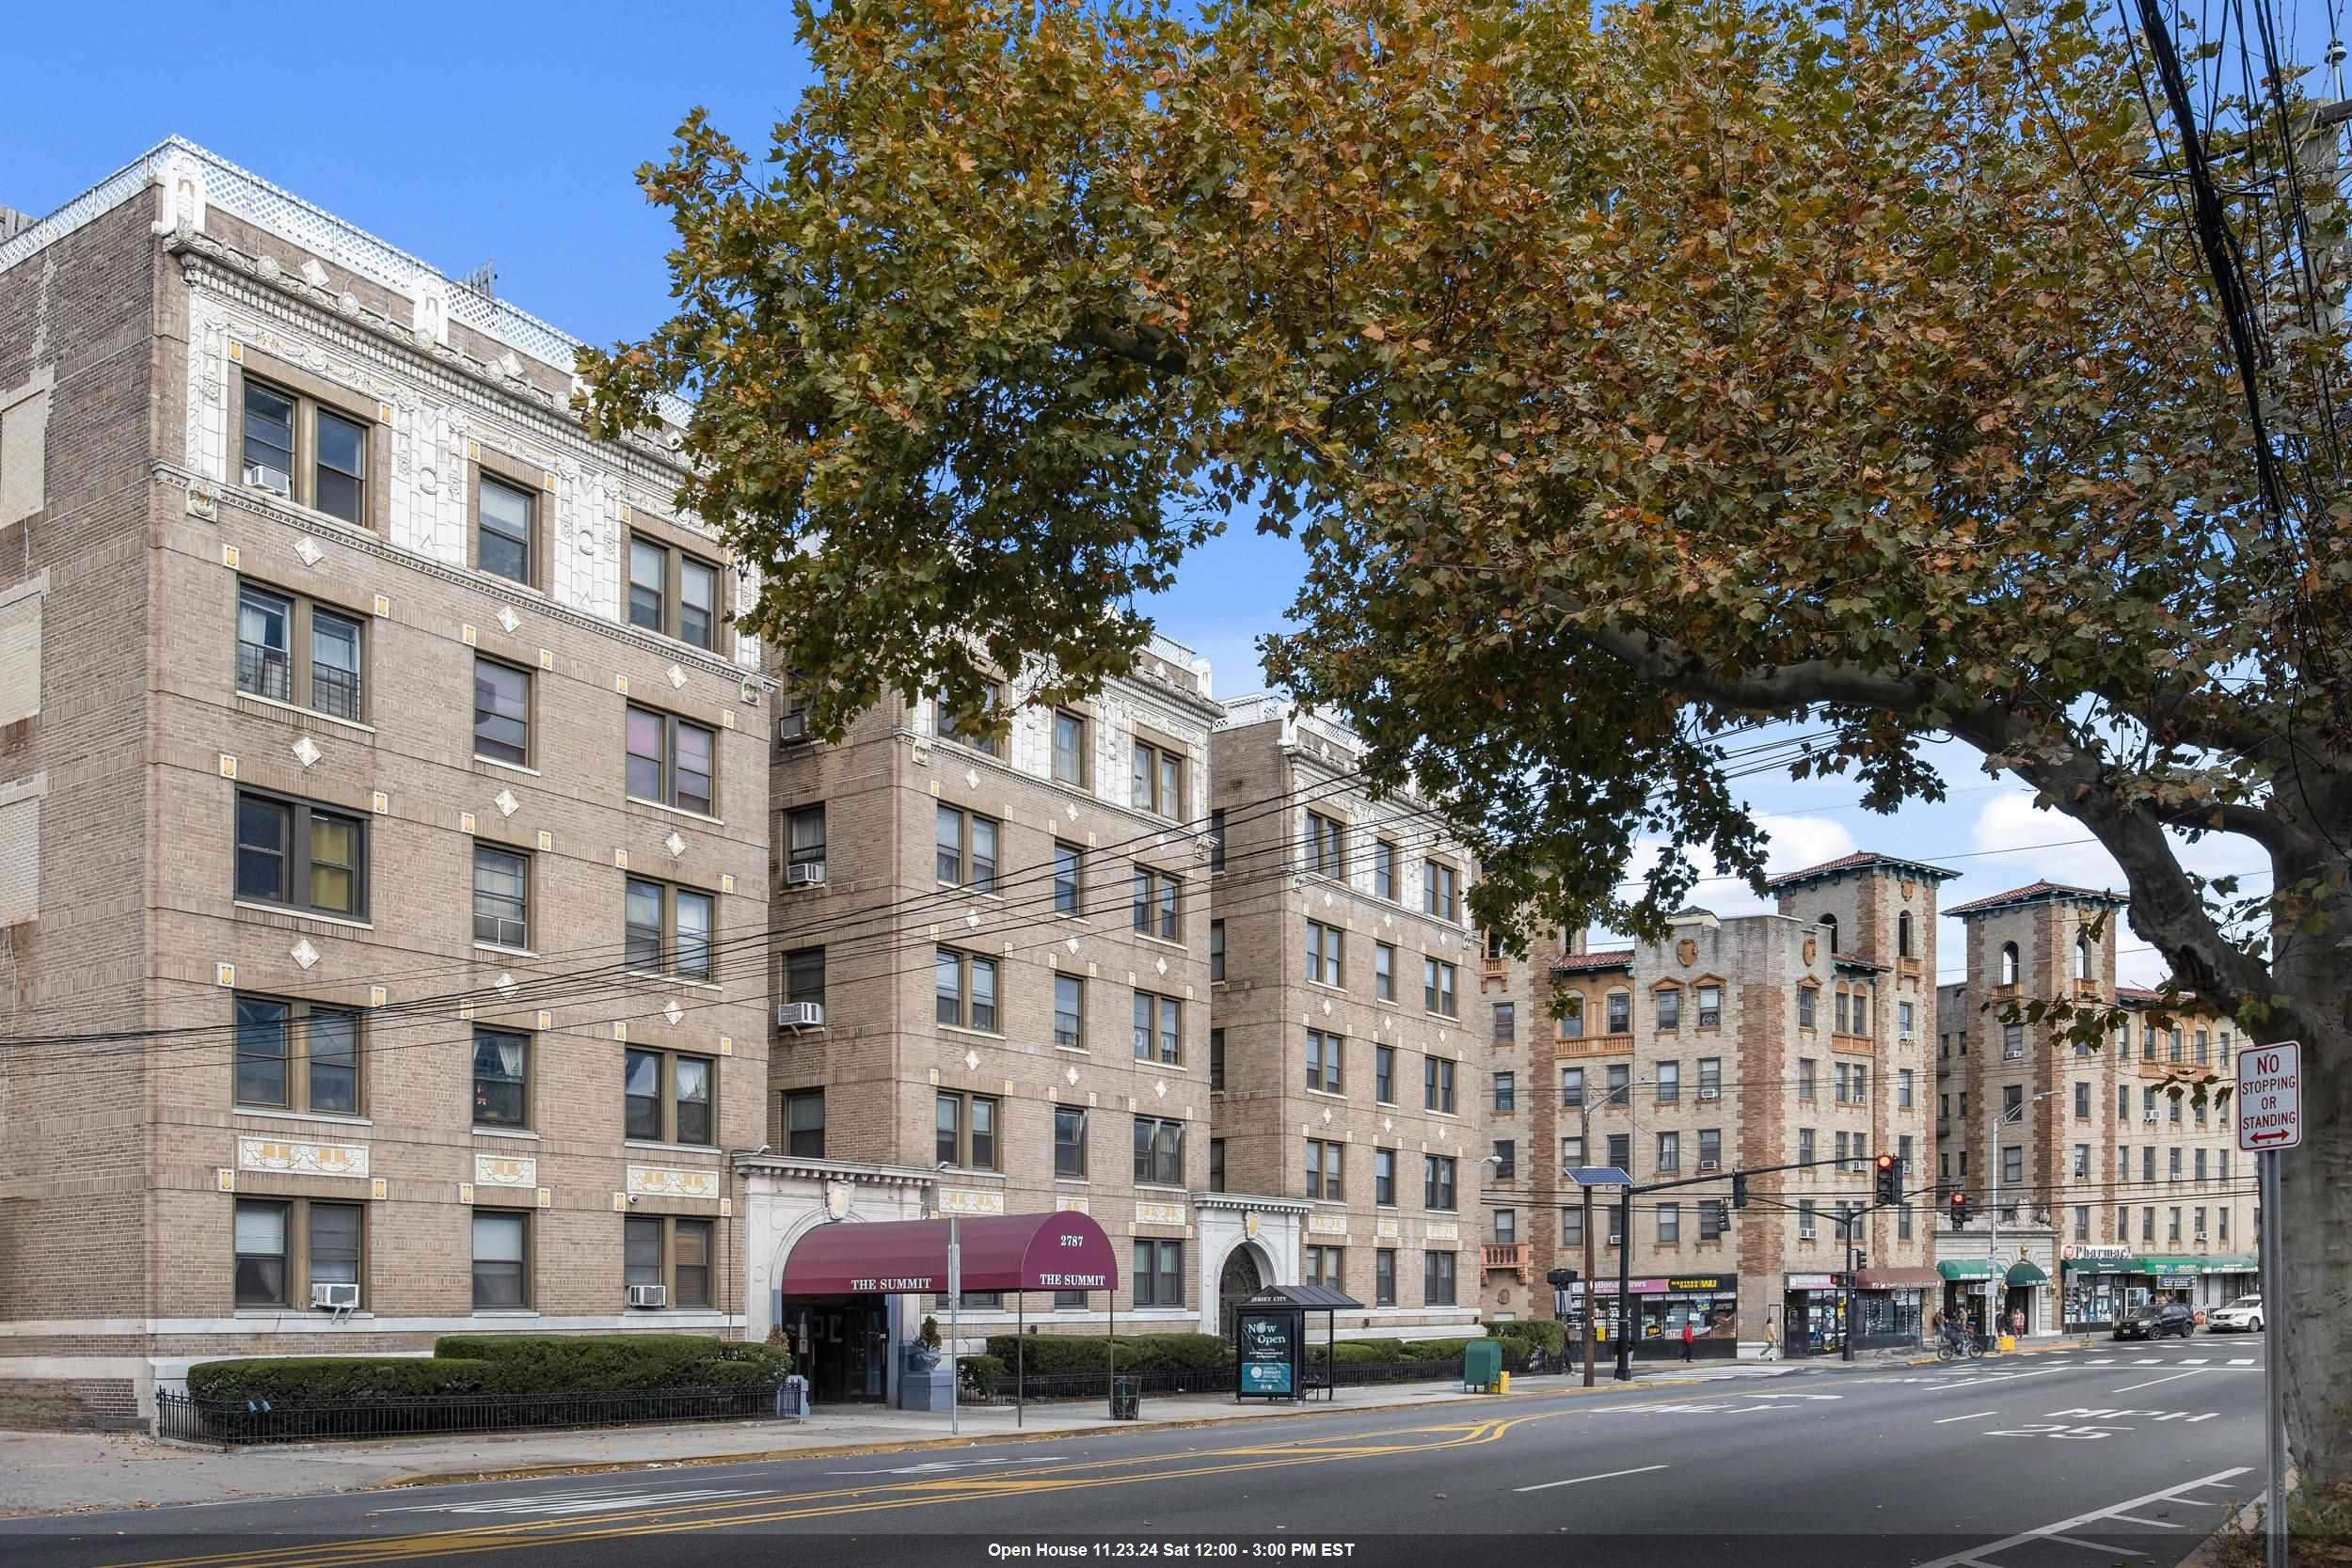
{"label": "low black iron fence in front of the left hedge", "polygon": [[155,1434],[183,1443],[315,1443],[360,1436],[635,1427],[776,1415],[767,1385],[397,1399],[195,1399],[155,1394]]}

